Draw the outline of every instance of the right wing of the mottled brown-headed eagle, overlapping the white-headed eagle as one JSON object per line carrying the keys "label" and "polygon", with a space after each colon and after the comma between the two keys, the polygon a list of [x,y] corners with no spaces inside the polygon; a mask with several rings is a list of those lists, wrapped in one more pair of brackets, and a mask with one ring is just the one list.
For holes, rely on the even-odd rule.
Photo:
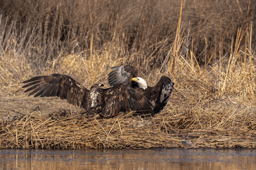
{"label": "right wing of the mottled brown-headed eagle, overlapping the white-headed eagle", "polygon": [[117,115],[119,112],[136,111],[135,116],[153,117],[152,104],[139,92],[127,84],[104,89],[102,115]]}

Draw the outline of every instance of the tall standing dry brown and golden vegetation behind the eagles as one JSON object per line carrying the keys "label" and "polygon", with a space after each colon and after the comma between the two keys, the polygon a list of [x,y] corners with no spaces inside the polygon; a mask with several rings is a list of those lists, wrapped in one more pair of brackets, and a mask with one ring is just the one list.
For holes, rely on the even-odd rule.
{"label": "tall standing dry brown and golden vegetation behind the eagles", "polygon": [[70,75],[87,88],[106,85],[111,67],[129,64],[149,85],[169,76],[178,99],[224,95],[252,102],[255,4],[1,1],[0,95],[23,95],[22,81],[52,73]]}

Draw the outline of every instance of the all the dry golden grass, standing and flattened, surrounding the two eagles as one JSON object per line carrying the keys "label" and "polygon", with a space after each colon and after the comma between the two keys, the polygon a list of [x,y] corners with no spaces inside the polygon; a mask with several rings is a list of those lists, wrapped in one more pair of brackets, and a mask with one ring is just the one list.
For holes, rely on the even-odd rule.
{"label": "all the dry golden grass, standing and flattened, surrounding the two eagles", "polygon": [[8,115],[1,119],[0,148],[182,147],[183,140],[195,147],[255,146],[250,21],[256,3],[112,1],[102,8],[91,1],[45,2],[18,3],[33,10],[1,16],[1,96],[20,95],[22,81],[52,73],[70,75],[86,88],[106,85],[110,68],[126,64],[139,67],[149,85],[170,77],[175,90],[165,112],[150,121],[127,114],[78,118],[75,107],[72,113]]}

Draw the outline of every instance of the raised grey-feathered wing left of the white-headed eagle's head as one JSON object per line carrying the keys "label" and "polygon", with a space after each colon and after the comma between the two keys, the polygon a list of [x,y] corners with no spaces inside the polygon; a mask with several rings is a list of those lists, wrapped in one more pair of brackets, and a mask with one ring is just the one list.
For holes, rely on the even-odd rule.
{"label": "raised grey-feathered wing left of the white-headed eagle's head", "polygon": [[108,75],[108,84],[110,86],[116,87],[120,83],[125,83],[131,85],[133,77],[138,77],[139,70],[135,66],[125,65],[112,67],[111,69],[116,69],[111,71]]}

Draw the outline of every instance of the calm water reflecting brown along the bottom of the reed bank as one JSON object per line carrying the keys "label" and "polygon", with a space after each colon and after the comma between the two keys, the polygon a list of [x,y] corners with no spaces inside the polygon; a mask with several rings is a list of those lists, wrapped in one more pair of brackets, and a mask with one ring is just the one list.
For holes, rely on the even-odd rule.
{"label": "calm water reflecting brown along the bottom of the reed bank", "polygon": [[256,150],[19,150],[0,149],[0,169],[250,169]]}

